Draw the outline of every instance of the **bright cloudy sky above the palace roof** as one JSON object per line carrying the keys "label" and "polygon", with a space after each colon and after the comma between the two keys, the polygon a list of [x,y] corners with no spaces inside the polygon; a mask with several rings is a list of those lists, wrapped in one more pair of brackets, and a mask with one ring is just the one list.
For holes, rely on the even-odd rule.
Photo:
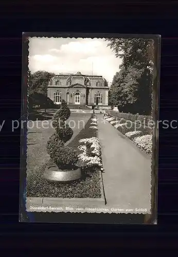
{"label": "bright cloudy sky above the palace roof", "polygon": [[[29,38],[29,69],[103,76],[109,85],[119,71],[121,59],[104,39]],[[92,65],[93,63],[93,65]]]}

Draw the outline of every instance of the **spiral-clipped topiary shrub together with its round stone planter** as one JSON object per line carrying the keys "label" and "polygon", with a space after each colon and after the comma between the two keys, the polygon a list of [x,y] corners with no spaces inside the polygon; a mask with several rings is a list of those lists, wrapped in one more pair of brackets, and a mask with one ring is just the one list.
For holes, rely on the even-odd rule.
{"label": "spiral-clipped topiary shrub together with its round stone planter", "polygon": [[[44,173],[46,179],[50,181],[70,181],[78,179],[81,176],[80,168],[76,166],[78,161],[77,152],[65,145],[72,138],[73,130],[66,124],[70,117],[70,110],[64,100],[61,102],[60,109],[54,115],[53,126],[56,132],[47,142],[47,152],[51,160],[56,164],[48,168]],[[49,172],[50,171],[50,172]],[[62,175],[61,172],[64,172]],[[74,174],[74,177],[72,173]]]}

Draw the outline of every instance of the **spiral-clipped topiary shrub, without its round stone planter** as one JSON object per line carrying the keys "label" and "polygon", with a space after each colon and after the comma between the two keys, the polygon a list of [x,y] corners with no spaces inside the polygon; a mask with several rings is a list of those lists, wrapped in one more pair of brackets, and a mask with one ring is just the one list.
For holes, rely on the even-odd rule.
{"label": "spiral-clipped topiary shrub, without its round stone planter", "polygon": [[47,142],[47,152],[52,161],[59,169],[72,169],[78,161],[77,152],[65,145],[73,136],[73,130],[66,124],[70,117],[70,110],[64,100],[61,102],[60,109],[54,115],[53,126],[56,132]]}

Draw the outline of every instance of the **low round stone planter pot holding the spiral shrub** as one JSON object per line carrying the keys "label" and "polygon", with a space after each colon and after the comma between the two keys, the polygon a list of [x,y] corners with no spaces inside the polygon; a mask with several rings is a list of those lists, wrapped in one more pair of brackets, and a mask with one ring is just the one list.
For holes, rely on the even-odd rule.
{"label": "low round stone planter pot holding the spiral shrub", "polygon": [[44,178],[49,182],[72,182],[81,178],[81,169],[60,170],[56,165],[48,167],[44,172]]}

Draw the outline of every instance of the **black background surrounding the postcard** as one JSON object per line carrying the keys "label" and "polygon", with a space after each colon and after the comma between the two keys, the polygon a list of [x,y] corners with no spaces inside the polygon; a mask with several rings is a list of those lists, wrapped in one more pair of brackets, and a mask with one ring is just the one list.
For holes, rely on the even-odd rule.
{"label": "black background surrounding the postcard", "polygon": [[96,254],[118,246],[126,247],[127,251],[129,248],[176,247],[177,129],[159,130],[157,226],[20,224],[20,130],[11,132],[11,120],[21,117],[22,31],[161,34],[159,119],[177,120],[177,8],[177,1],[88,3],[78,0],[58,5],[51,1],[43,1],[41,5],[38,1],[8,1],[0,4],[0,117],[6,120],[0,133],[0,244],[6,253],[10,245],[13,254],[19,248],[28,252],[30,248],[38,248],[45,254],[59,246],[68,250],[83,248],[83,251],[92,248]]}

